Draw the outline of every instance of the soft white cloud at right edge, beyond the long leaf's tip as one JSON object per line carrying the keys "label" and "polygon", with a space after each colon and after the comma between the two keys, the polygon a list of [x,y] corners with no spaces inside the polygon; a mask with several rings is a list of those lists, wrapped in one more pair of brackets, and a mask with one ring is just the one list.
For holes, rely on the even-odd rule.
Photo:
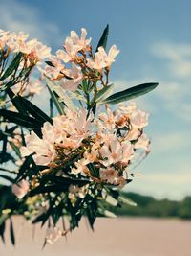
{"label": "soft white cloud at right edge, beyond the long leaf's tip", "polygon": [[191,122],[191,44],[154,43],[152,54],[163,58],[158,96],[162,105],[181,120]]}

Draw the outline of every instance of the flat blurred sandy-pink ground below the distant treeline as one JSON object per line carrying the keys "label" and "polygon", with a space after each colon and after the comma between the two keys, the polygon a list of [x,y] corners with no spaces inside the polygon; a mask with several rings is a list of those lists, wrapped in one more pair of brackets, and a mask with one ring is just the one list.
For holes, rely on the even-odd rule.
{"label": "flat blurred sandy-pink ground below the distant treeline", "polygon": [[[42,250],[45,230],[13,220],[16,247],[0,244],[0,256],[191,256],[191,221],[142,218],[98,219],[95,232],[79,229]],[[7,234],[8,235],[8,234]]]}

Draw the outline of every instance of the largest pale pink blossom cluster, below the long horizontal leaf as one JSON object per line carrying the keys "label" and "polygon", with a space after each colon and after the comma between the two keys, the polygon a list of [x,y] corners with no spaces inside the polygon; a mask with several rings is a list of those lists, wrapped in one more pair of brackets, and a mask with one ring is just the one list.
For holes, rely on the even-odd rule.
{"label": "largest pale pink blossom cluster, below the long horizontal leaf", "polygon": [[[53,118],[53,125],[46,122],[42,138],[34,132],[26,136],[23,156],[33,154],[38,165],[64,170],[74,156],[71,174],[84,175],[96,182],[123,186],[129,166],[138,149],[149,152],[149,139],[143,133],[148,124],[148,114],[137,109],[134,103],[119,105],[116,111],[107,107],[97,117],[81,110],[66,109],[65,115]],[[88,116],[88,118],[87,118]],[[99,175],[91,173],[90,164]]]}

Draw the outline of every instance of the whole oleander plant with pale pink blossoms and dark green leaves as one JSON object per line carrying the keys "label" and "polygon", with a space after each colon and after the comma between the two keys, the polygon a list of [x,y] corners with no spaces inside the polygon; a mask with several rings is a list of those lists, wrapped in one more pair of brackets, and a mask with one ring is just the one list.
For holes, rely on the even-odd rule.
{"label": "whole oleander plant with pale pink blossoms and dark green leaves", "polygon": [[[107,203],[129,202],[120,190],[132,181],[140,151],[149,152],[150,141],[143,132],[148,114],[135,103],[121,103],[158,83],[112,94],[109,74],[119,50],[113,45],[106,52],[108,29],[95,52],[82,29],[81,36],[72,31],[55,55],[24,33],[0,32],[3,240],[10,220],[14,244],[13,215],[48,223],[45,244],[53,244],[77,227],[82,216],[93,227],[97,216],[113,216]],[[39,73],[40,79],[34,81]],[[46,88],[49,115],[32,104],[33,95]],[[60,219],[62,230],[56,226]]]}

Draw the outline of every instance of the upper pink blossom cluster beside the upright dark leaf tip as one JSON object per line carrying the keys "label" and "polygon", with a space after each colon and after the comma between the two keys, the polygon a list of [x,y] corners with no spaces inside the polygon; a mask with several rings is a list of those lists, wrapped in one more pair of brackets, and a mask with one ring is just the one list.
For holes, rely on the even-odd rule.
{"label": "upper pink blossom cluster beside the upright dark leaf tip", "polygon": [[87,31],[84,28],[81,29],[80,37],[72,31],[66,38],[63,49],[58,50],[55,56],[51,56],[45,69],[46,76],[52,80],[59,80],[60,85],[68,91],[76,91],[83,79],[102,79],[103,74],[108,74],[119,53],[116,45],[111,47],[108,54],[101,46],[94,56],[91,38],[86,39],[86,35]]}

